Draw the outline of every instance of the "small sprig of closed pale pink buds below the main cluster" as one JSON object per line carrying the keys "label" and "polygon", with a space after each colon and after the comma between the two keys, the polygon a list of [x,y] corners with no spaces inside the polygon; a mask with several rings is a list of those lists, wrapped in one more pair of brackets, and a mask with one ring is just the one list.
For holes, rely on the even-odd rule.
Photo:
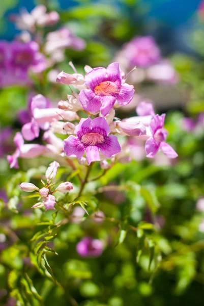
{"label": "small sprig of closed pale pink buds below the main cluster", "polygon": [[55,196],[53,193],[56,191],[59,191],[61,193],[69,192],[73,189],[73,185],[70,182],[61,183],[57,188],[54,190],[51,190],[51,187],[54,185],[52,181],[55,179],[57,174],[57,169],[60,167],[60,164],[57,162],[52,162],[49,167],[47,168],[47,171],[45,173],[47,184],[44,184],[43,188],[38,188],[32,183],[21,183],[20,189],[25,192],[33,192],[38,191],[39,192],[39,199],[41,198],[41,201],[36,203],[32,208],[42,208],[45,207],[45,210],[54,210],[54,205],[56,203]]}

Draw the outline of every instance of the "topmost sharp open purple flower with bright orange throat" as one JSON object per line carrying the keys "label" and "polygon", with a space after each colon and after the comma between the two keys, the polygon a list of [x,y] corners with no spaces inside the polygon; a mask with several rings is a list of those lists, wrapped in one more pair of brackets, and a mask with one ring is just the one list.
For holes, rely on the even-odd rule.
{"label": "topmost sharp open purple flower with bright orange throat", "polygon": [[79,101],[84,110],[89,112],[101,111],[105,116],[113,108],[115,101],[122,106],[127,105],[133,98],[132,85],[122,84],[122,76],[119,63],[110,64],[107,69],[94,68],[87,73],[84,83],[89,89],[83,89],[79,93]]}

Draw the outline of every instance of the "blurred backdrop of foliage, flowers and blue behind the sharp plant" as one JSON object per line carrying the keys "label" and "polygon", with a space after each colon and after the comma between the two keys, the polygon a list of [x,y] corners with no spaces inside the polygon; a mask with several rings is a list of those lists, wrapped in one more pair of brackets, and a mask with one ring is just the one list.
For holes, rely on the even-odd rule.
{"label": "blurred backdrop of foliage, flowers and blue behind the sharp plant", "polygon": [[[36,10],[39,5],[45,7]],[[0,17],[0,305],[41,305],[35,288],[45,305],[202,305],[204,2],[6,0]],[[135,87],[132,102],[118,108],[116,116],[136,116],[139,102],[151,102],[156,113],[166,112],[168,143],[179,157],[147,159],[143,144],[132,137],[132,161],[117,163],[100,183],[135,189],[103,192],[90,200],[90,215],[97,208],[109,221],[73,212],[80,220],[65,224],[50,242],[59,253],[48,257],[58,282],[53,283],[37,268],[40,247],[31,242],[39,220],[46,223],[52,216],[31,210],[32,198],[22,198],[18,187],[31,177],[38,182],[50,160],[19,159],[17,170],[11,159],[10,169],[6,157],[15,152],[15,133],[32,120],[33,95],[43,94],[56,107],[72,92],[56,83],[58,73],[85,74],[85,65],[107,67],[113,61]],[[44,144],[42,131],[29,143]],[[100,170],[96,167],[95,175]],[[62,167],[59,177],[70,177],[69,171]],[[73,182],[77,185],[76,177]],[[127,215],[131,226],[141,225],[141,236],[129,231],[115,247],[118,228],[110,220]],[[80,257],[76,245],[84,236],[106,241],[100,257]],[[154,248],[144,238],[154,241]]]}

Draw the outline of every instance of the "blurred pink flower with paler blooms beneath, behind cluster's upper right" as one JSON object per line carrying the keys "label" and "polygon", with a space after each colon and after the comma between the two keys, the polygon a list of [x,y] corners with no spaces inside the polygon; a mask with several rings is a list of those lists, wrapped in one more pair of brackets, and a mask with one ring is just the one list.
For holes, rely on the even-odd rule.
{"label": "blurred pink flower with paler blooms beneath, behind cluster's upper right", "polygon": [[151,36],[133,38],[123,46],[115,60],[126,72],[137,68],[137,73],[129,76],[132,83],[144,80],[167,84],[178,82],[178,74],[171,63],[162,58],[160,49]]}

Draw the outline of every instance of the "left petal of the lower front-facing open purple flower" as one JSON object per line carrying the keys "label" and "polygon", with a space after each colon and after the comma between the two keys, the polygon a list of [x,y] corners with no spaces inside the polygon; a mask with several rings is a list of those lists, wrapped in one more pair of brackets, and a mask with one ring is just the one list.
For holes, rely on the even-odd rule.
{"label": "left petal of the lower front-facing open purple flower", "polygon": [[71,135],[64,140],[64,151],[67,156],[76,155],[79,158],[84,154],[84,146],[78,137]]}

